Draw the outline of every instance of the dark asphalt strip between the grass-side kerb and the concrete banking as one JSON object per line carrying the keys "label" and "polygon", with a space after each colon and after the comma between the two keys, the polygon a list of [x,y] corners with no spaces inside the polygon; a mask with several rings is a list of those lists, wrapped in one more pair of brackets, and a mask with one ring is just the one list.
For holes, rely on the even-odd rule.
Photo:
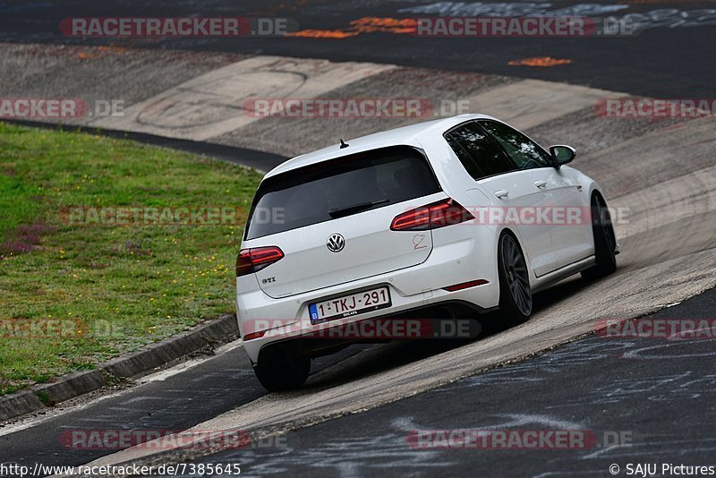
{"label": "dark asphalt strip between the grass-side kerb and the concrete banking", "polygon": [[[311,372],[359,350],[361,346],[354,346],[314,361]],[[166,380],[146,383],[0,436],[0,463],[82,465],[117,450],[66,447],[61,440],[64,431],[183,431],[266,393],[246,353],[237,348]]]}

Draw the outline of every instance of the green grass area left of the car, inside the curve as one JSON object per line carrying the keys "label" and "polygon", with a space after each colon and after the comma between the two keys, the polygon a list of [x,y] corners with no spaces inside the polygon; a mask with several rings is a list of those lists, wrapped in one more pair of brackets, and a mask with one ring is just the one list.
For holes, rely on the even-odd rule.
{"label": "green grass area left of the car, inside the curve", "polygon": [[[234,312],[234,260],[259,181],[209,158],[0,123],[0,394]],[[77,226],[63,214],[73,206],[240,214],[237,225]],[[28,337],[18,327],[29,323],[64,329]]]}

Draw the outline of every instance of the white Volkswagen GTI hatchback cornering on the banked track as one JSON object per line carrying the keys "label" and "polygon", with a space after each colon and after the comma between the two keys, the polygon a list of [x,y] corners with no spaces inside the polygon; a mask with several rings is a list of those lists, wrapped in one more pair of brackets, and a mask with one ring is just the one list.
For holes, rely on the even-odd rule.
{"label": "white Volkswagen GTI hatchback cornering on the banked track", "polygon": [[[604,195],[487,115],[379,132],[290,159],[261,182],[236,260],[243,348],[269,390],[300,387],[311,358],[350,341],[317,331],[390,317],[500,310],[616,269]],[[329,339],[327,339],[329,338]]]}

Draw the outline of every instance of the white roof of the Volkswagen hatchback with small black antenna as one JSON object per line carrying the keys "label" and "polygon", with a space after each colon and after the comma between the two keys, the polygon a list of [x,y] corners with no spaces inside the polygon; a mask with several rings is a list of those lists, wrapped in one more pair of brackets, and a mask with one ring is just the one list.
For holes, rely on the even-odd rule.
{"label": "white roof of the Volkswagen hatchback with small black antenna", "polygon": [[468,114],[456,115],[448,118],[441,118],[432,121],[426,121],[418,124],[411,124],[393,130],[384,132],[374,132],[366,136],[345,140],[349,144],[348,148],[341,149],[340,142],[336,142],[327,148],[318,149],[310,153],[306,153],[295,158],[288,159],[280,165],[271,169],[264,178],[274,175],[280,175],[303,166],[310,166],[328,159],[341,158],[354,153],[367,151],[369,149],[384,148],[386,146],[397,146],[402,144],[414,145],[420,143],[420,138],[426,134],[434,134],[435,132],[443,132],[452,128],[456,124],[464,123],[471,119],[494,119],[489,115]]}

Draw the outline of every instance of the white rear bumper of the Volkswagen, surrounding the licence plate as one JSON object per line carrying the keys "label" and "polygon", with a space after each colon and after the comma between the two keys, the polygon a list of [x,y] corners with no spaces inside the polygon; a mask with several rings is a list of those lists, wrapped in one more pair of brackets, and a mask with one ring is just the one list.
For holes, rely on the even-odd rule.
{"label": "white rear bumper of the Volkswagen, surrounding the licence plate", "polygon": [[[446,229],[451,229],[451,227]],[[465,230],[465,233],[468,232]],[[452,234],[454,235],[455,231]],[[256,286],[255,277],[239,277],[236,306],[242,337],[265,330],[262,337],[244,340],[243,347],[249,355],[251,363],[257,363],[261,350],[278,342],[283,345],[286,345],[287,341],[299,342],[296,347],[303,351],[320,348],[321,343],[316,344],[316,341],[320,340],[324,340],[327,347],[335,346],[336,344],[329,344],[333,340],[332,337],[323,337],[329,336],[329,334],[321,334],[322,338],[306,337],[319,333],[321,330],[325,331],[327,328],[379,317],[389,318],[400,313],[405,314],[408,311],[424,310],[441,303],[464,303],[465,306],[472,307],[476,313],[494,308],[499,303],[497,264],[491,252],[492,248],[476,247],[476,243],[478,240],[474,236],[464,236],[462,240],[445,246],[436,245],[428,259],[422,264],[279,299],[271,298],[263,293]],[[475,279],[483,279],[487,283],[455,292],[449,292],[443,288]],[[347,319],[311,324],[310,303],[378,286],[388,287],[391,298],[389,308],[361,313]],[[431,317],[423,318],[432,319]],[[308,340],[312,341],[311,346],[308,345]],[[305,341],[305,346],[303,346],[303,341]],[[336,342],[336,340],[333,341]]]}

